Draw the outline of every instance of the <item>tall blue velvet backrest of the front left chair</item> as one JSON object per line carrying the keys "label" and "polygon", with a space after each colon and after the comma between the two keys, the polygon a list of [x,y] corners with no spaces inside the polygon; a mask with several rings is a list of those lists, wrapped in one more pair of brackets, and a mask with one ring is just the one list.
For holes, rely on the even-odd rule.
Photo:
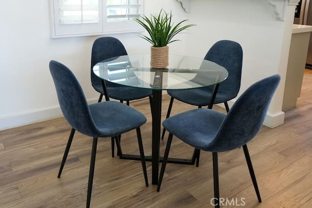
{"label": "tall blue velvet backrest of the front left chair", "polygon": [[59,105],[67,122],[78,132],[97,134],[88,103],[75,75],[65,65],[51,60],[50,72],[57,91]]}

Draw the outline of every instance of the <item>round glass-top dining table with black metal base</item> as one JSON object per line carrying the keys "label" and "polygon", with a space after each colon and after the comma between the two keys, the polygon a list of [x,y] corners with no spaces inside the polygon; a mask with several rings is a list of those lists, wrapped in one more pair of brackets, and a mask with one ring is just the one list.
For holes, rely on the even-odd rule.
{"label": "round glass-top dining table with black metal base", "polygon": [[[162,160],[159,156],[162,91],[213,86],[214,94],[209,105],[212,108],[219,83],[228,77],[228,72],[212,61],[179,55],[169,55],[169,66],[156,69],[150,66],[150,58],[149,54],[113,57],[98,62],[93,67],[93,72],[102,79],[103,87],[105,82],[114,82],[152,90],[152,155],[146,156],[146,160],[152,161],[152,184],[157,184],[158,164]],[[124,159],[139,159],[138,155],[119,156]],[[168,158],[168,162],[194,164],[195,157],[194,151],[190,160]]]}

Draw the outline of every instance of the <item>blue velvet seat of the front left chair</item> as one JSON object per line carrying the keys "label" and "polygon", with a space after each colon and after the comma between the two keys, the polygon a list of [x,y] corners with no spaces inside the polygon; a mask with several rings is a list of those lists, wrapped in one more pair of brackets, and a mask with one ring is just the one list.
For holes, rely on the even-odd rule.
{"label": "blue velvet seat of the front left chair", "polygon": [[112,137],[140,127],[146,122],[144,114],[117,101],[89,105],[98,137]]}

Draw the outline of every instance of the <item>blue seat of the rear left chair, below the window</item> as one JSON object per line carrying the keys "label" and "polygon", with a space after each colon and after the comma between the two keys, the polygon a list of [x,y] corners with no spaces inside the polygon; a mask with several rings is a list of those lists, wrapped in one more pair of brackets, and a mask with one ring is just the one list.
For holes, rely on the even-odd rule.
{"label": "blue seat of the rear left chair, below the window", "polygon": [[[93,87],[104,94],[101,83],[93,83]],[[112,82],[106,82],[106,89],[109,97],[116,100],[137,100],[152,95],[152,90],[149,89],[127,87]]]}

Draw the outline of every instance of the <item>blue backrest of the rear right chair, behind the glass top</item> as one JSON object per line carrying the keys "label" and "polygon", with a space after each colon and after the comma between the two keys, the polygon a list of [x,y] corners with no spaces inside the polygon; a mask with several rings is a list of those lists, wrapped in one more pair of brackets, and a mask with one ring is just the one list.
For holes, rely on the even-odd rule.
{"label": "blue backrest of the rear right chair, behind the glass top", "polygon": [[240,88],[243,50],[239,43],[232,40],[219,40],[207,52],[206,60],[213,61],[226,68],[229,76],[220,83],[218,90],[231,92],[233,97],[237,96]]}

